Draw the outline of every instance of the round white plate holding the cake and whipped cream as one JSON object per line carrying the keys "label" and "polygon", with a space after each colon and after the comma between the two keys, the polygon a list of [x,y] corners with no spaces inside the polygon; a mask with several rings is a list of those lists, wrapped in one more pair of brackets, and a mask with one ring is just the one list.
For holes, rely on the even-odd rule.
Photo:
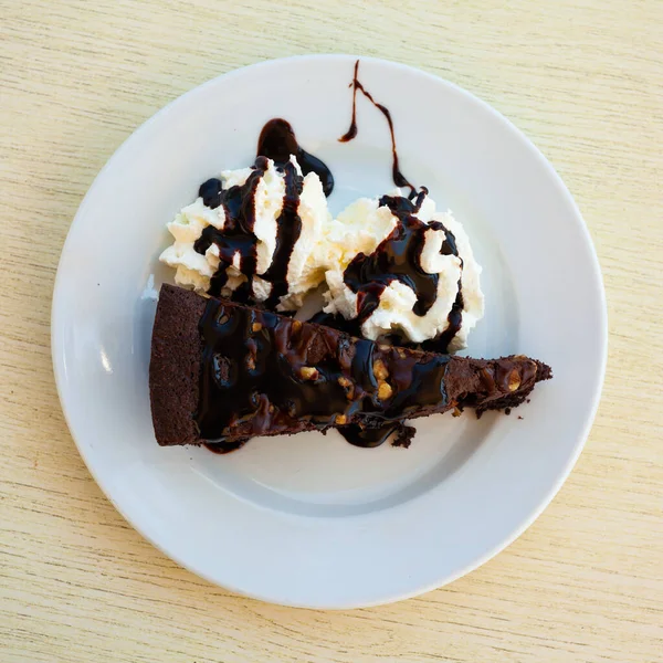
{"label": "round white plate holding the cake and whipped cream", "polygon": [[[546,159],[504,117],[423,72],[361,59],[393,116],[406,176],[465,223],[486,315],[469,354],[523,352],[555,379],[511,417],[419,420],[411,449],[358,449],[336,433],[256,439],[227,456],[160,449],[147,385],[150,274],[166,222],[198,185],[250,165],[271,117],[288,119],[336,177],[334,213],[392,187],[383,117],[358,98],[355,59],[265,62],[157,113],[102,170],[72,224],[53,298],[57,389],[90,471],[144,536],[196,573],[276,603],[396,601],[474,569],[513,541],[571,470],[598,404],[606,305],[580,213]],[[520,419],[522,417],[523,419]]]}

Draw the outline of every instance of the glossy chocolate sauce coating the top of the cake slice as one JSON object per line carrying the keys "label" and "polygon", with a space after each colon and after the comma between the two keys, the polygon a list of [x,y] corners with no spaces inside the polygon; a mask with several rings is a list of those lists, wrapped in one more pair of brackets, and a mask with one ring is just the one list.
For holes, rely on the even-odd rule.
{"label": "glossy chocolate sauce coating the top of the cake slice", "polygon": [[[338,417],[355,415],[361,429],[346,427],[341,432],[355,444],[372,446],[400,430],[414,409],[446,403],[448,357],[394,362],[389,359],[394,348],[214,298],[208,301],[199,329],[203,352],[196,420],[201,438],[220,445],[214,451],[231,451],[245,441],[225,442],[229,427],[233,438],[246,430],[248,439],[287,432],[302,421],[325,430]],[[393,396],[387,404],[378,399],[377,358],[393,368]],[[315,377],[304,376],[306,367],[315,368]]]}

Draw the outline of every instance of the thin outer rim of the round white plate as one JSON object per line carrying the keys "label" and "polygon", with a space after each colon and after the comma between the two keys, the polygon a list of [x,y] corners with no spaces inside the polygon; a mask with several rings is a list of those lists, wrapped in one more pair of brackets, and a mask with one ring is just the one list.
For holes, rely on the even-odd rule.
{"label": "thin outer rim of the round white plate", "polygon": [[[88,203],[88,201],[92,199],[95,189],[99,186],[99,182],[104,179],[106,171],[112,167],[113,162],[116,159],[119,159],[120,156],[124,155],[125,151],[127,151],[131,148],[131,145],[137,139],[137,136],[139,134],[143,134],[152,123],[156,123],[158,119],[162,118],[168,113],[170,113],[171,109],[173,107],[176,107],[177,105],[179,105],[180,103],[182,103],[182,101],[185,98],[188,99],[192,96],[200,94],[208,86],[214,85],[221,78],[229,80],[229,78],[233,78],[233,77],[239,77],[242,74],[244,74],[248,70],[256,70],[256,69],[267,70],[272,66],[281,66],[283,64],[286,64],[287,62],[301,61],[301,60],[309,60],[309,61],[338,60],[338,61],[344,61],[344,62],[352,62],[355,60],[360,60],[361,62],[373,62],[379,65],[387,65],[389,67],[398,67],[400,70],[406,71],[407,73],[409,73],[411,75],[419,76],[421,78],[427,78],[429,83],[432,83],[435,85],[441,84],[441,85],[451,87],[455,93],[457,93],[462,96],[465,96],[472,103],[478,104],[480,106],[482,106],[484,110],[487,110],[497,120],[499,120],[499,124],[502,124],[511,133],[515,134],[516,137],[527,147],[530,156],[533,158],[536,158],[539,161],[539,164],[546,170],[547,175],[550,177],[551,182],[554,182],[554,185],[557,189],[557,193],[565,199],[565,202],[572,210],[573,215],[575,215],[575,224],[577,225],[577,229],[580,231],[579,235],[585,245],[583,249],[586,250],[587,256],[590,259],[590,265],[589,265],[590,273],[591,273],[591,276],[592,276],[592,278],[594,281],[594,285],[596,285],[596,288],[593,288],[593,290],[596,290],[597,294],[599,295],[599,301],[597,302],[597,304],[599,305],[598,312],[600,315],[600,319],[598,319],[598,326],[600,328],[601,334],[600,334],[600,338],[597,338],[597,345],[599,346],[599,349],[600,349],[600,352],[599,352],[600,366],[599,366],[599,370],[598,370],[598,373],[594,379],[594,388],[593,388],[593,393],[591,394],[591,403],[585,414],[585,423],[583,423],[582,430],[579,431],[579,433],[577,434],[577,441],[573,445],[573,451],[571,454],[569,454],[569,457],[566,462],[564,470],[561,472],[559,472],[556,481],[554,482],[554,485],[551,485],[550,490],[539,501],[539,503],[536,505],[536,507],[532,509],[529,516],[527,518],[525,518],[517,528],[507,532],[505,534],[505,536],[499,540],[498,544],[493,546],[484,555],[480,556],[478,559],[473,559],[473,560],[469,561],[466,566],[459,569],[455,573],[450,573],[446,577],[440,578],[436,581],[432,581],[432,582],[428,583],[427,586],[417,587],[414,589],[411,589],[408,592],[400,592],[397,596],[388,596],[388,597],[383,596],[382,598],[369,600],[366,602],[356,601],[352,603],[344,603],[344,604],[328,604],[328,603],[325,603],[324,601],[318,602],[318,603],[299,603],[299,602],[288,602],[288,601],[283,601],[283,600],[275,601],[275,599],[273,597],[261,596],[259,592],[251,592],[251,591],[246,591],[245,589],[242,589],[242,588],[233,587],[233,585],[231,582],[224,581],[223,585],[221,585],[217,578],[211,577],[211,575],[208,573],[206,570],[196,568],[196,565],[192,565],[191,562],[187,561],[186,559],[182,559],[182,557],[180,555],[172,554],[171,551],[167,550],[166,546],[162,546],[158,540],[156,540],[152,536],[150,536],[148,533],[146,533],[143,527],[139,527],[137,524],[135,524],[134,520],[126,513],[126,509],[123,509],[119,506],[119,504],[115,501],[110,491],[107,490],[107,487],[104,485],[105,482],[99,477],[97,472],[93,469],[93,463],[88,459],[87,450],[80,442],[76,433],[74,432],[74,425],[73,425],[73,421],[72,421],[72,412],[67,411],[67,407],[66,407],[65,400],[64,400],[64,373],[66,372],[66,367],[63,366],[63,361],[62,361],[64,339],[61,334],[61,326],[57,324],[59,317],[64,315],[64,313],[61,311],[62,309],[62,299],[63,299],[62,281],[64,278],[62,265],[66,259],[67,248],[71,248],[72,234],[73,234],[74,230],[76,229],[76,227],[82,223],[82,219],[84,217],[85,209],[87,207],[86,203]],[[427,72],[427,71],[423,71],[415,66],[412,66],[412,65],[403,64],[400,62],[394,62],[394,61],[387,60],[387,59],[370,57],[370,56],[364,56],[364,55],[359,56],[359,55],[352,55],[352,54],[301,54],[301,55],[294,55],[294,56],[290,56],[290,57],[271,59],[271,60],[264,60],[261,62],[256,62],[256,63],[250,64],[248,66],[232,70],[230,72],[227,72],[224,74],[215,76],[196,87],[192,87],[191,90],[185,92],[183,94],[177,96],[175,99],[170,101],[168,104],[166,104],[164,107],[161,107],[155,114],[152,114],[149,118],[147,118],[145,122],[143,122],[136,129],[134,129],[131,131],[131,134],[129,136],[127,136],[127,138],[122,143],[122,145],[119,145],[117,147],[117,149],[113,152],[113,155],[110,155],[110,157],[108,158],[106,164],[103,166],[103,168],[98,171],[98,173],[94,178],[94,180],[93,180],[92,185],[90,186],[90,188],[87,189],[85,196],[83,197],[83,199],[76,210],[74,219],[73,219],[72,223],[70,224],[66,239],[62,246],[62,251],[61,251],[61,255],[60,255],[60,260],[59,260],[59,264],[57,264],[57,272],[56,272],[54,285],[53,285],[53,297],[52,297],[52,305],[51,305],[51,356],[52,356],[52,362],[53,362],[55,386],[56,386],[57,397],[60,399],[62,412],[63,412],[65,422],[67,424],[67,428],[70,430],[70,434],[71,434],[72,439],[74,440],[74,443],[76,444],[78,453],[81,454],[81,457],[83,459],[88,472],[91,473],[92,477],[94,478],[96,484],[99,486],[99,488],[102,490],[102,492],[104,493],[106,498],[113,504],[113,506],[116,508],[116,511],[120,514],[120,516],[136,532],[138,532],[138,534],[140,536],[143,536],[146,540],[148,540],[159,551],[161,551],[168,558],[176,561],[179,566],[181,566],[181,567],[186,568],[187,570],[196,573],[197,576],[206,579],[207,581],[211,582],[212,585],[223,587],[223,588],[229,589],[238,594],[250,597],[250,598],[257,599],[261,601],[277,603],[277,604],[282,604],[282,606],[290,606],[290,607],[297,607],[297,608],[311,608],[311,609],[345,610],[345,609],[352,609],[352,608],[368,608],[368,607],[391,603],[394,601],[406,600],[406,599],[409,599],[409,598],[412,598],[415,596],[420,596],[422,593],[425,593],[428,591],[431,591],[433,589],[436,589],[436,588],[443,587],[450,582],[453,582],[454,580],[456,580],[456,579],[465,576],[466,573],[475,570],[476,568],[483,566],[486,561],[488,561],[490,559],[492,559],[493,557],[498,555],[502,550],[504,550],[506,547],[508,547],[511,544],[513,544],[517,538],[519,538],[532,526],[532,524],[540,516],[540,514],[547,508],[547,506],[552,502],[552,499],[555,498],[555,496],[557,495],[557,493],[559,492],[559,490],[561,488],[561,486],[568,478],[569,474],[571,473],[573,466],[576,465],[576,463],[578,461],[578,457],[580,456],[580,453],[582,452],[582,450],[585,448],[585,444],[589,438],[589,433],[591,431],[593,421],[596,419],[597,410],[598,410],[599,402],[601,399],[601,392],[602,392],[602,388],[603,388],[603,383],[604,383],[607,360],[608,360],[607,298],[606,298],[606,290],[604,290],[604,284],[603,284],[603,276],[602,276],[599,259],[597,255],[596,246],[591,240],[591,235],[590,235],[589,229],[587,227],[587,223],[585,222],[585,219],[583,219],[573,197],[571,196],[570,191],[566,187],[564,180],[561,179],[561,177],[559,176],[557,170],[548,161],[548,159],[544,156],[544,154],[538,149],[538,147],[535,145],[535,143],[532,139],[529,139],[506,116],[504,116],[496,108],[491,106],[487,102],[484,102],[482,98],[480,98],[476,95],[474,95],[473,93],[464,90],[460,85],[457,85],[451,81],[448,81],[445,78],[442,78],[441,76],[438,76],[430,72]]]}

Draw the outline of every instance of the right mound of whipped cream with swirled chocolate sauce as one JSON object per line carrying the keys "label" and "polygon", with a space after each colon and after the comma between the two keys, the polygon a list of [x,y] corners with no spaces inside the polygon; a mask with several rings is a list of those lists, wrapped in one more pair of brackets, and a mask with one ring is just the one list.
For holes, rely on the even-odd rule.
{"label": "right mound of whipped cream with swirled chocolate sauce", "polygon": [[[401,192],[397,190],[391,196],[398,198]],[[327,302],[325,313],[340,314],[348,320],[361,319],[361,306],[365,305],[365,299],[359,292],[355,292],[356,287],[354,290],[348,285],[346,270],[355,257],[365,261],[364,256],[359,256],[359,253],[364,253],[369,261],[371,257],[376,259],[373,269],[369,270],[370,274],[366,278],[375,280],[370,285],[382,288],[377,306],[361,322],[361,333],[366,338],[375,340],[392,333],[402,334],[413,343],[436,338],[448,332],[451,324],[450,314],[452,314],[454,303],[459,299],[456,313],[462,316],[462,324],[449,339],[448,349],[450,351],[462,349],[466,347],[467,334],[483,316],[484,297],[480,287],[481,266],[474,259],[470,240],[461,223],[453,218],[451,212],[438,212],[435,203],[430,197],[425,196],[419,209],[411,215],[421,222],[412,222],[419,233],[420,251],[417,257],[408,255],[408,269],[404,272],[410,271],[412,274],[421,271],[424,274],[436,275],[436,288],[433,297],[430,297],[433,301],[424,314],[421,315],[421,309],[418,311],[418,293],[413,288],[409,275],[406,273],[402,278],[390,277],[387,257],[383,255],[378,260],[376,256],[376,250],[383,241],[391,242],[393,246],[398,241],[402,244],[402,238],[400,235],[396,238],[398,231],[394,231],[400,221],[389,207],[380,206],[379,199],[368,198],[354,202],[339,214],[337,223],[345,225],[345,232],[339,229],[332,231],[335,236],[343,238],[345,248],[341,260],[330,266],[325,274],[329,287],[329,291],[325,293]],[[361,239],[357,241],[359,250],[351,255],[350,241],[359,229],[366,230]],[[454,252],[450,249],[451,244],[445,231],[453,235],[451,240],[452,244],[455,244]],[[383,246],[385,244],[382,244]],[[397,251],[401,249],[397,249]],[[414,261],[418,264],[411,264]],[[375,265],[381,265],[378,267],[378,273],[376,273]],[[383,269],[382,273],[379,273],[380,269]],[[367,270],[364,269],[358,273],[364,275],[366,272]],[[429,281],[434,284],[434,280]],[[357,286],[357,283],[354,285]],[[367,285],[369,285],[367,281],[359,284],[361,290]],[[459,297],[459,287],[461,297]]]}

